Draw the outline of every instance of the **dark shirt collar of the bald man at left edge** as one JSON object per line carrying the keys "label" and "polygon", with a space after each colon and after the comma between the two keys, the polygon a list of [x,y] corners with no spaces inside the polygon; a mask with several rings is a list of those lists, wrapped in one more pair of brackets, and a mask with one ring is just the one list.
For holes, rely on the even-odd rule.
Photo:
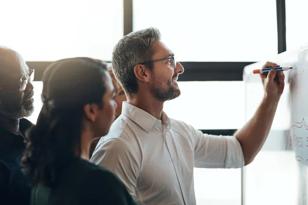
{"label": "dark shirt collar of the bald man at left edge", "polygon": [[[33,124],[27,119],[20,119],[20,131],[25,134]],[[0,127],[0,150],[9,150],[15,144],[24,144],[22,135],[13,133],[3,127]]]}

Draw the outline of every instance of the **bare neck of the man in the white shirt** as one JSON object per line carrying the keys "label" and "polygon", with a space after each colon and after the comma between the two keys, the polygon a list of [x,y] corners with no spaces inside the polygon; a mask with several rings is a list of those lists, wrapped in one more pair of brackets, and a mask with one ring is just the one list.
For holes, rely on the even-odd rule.
{"label": "bare neck of the man in the white shirt", "polygon": [[138,94],[133,96],[133,98],[129,98],[127,101],[129,104],[144,110],[156,119],[162,119],[164,102],[158,101],[151,96],[138,96]]}

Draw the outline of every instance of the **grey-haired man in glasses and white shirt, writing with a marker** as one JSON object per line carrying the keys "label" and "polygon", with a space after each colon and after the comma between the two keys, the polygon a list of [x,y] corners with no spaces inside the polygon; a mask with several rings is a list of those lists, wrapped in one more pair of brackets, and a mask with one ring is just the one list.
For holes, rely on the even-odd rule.
{"label": "grey-haired man in glasses and white shirt, writing with a marker", "polygon": [[[264,67],[278,65],[267,62]],[[114,47],[112,68],[128,101],[90,161],[117,174],[139,204],[196,204],[194,167],[241,168],[251,163],[272,126],[284,88],[282,72],[272,69],[261,75],[264,98],[252,119],[234,136],[214,136],[163,111],[166,100],[180,95],[177,79],[184,68],[157,29],[124,36]]]}

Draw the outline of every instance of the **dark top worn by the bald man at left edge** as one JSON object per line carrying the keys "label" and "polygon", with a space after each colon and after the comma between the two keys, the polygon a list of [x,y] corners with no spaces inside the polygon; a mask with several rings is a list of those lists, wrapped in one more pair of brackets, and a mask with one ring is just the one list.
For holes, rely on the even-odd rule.
{"label": "dark top worn by the bald man at left edge", "polygon": [[[20,131],[24,134],[32,125],[21,119]],[[0,127],[0,204],[30,203],[31,189],[21,167],[26,143],[22,135]]]}

